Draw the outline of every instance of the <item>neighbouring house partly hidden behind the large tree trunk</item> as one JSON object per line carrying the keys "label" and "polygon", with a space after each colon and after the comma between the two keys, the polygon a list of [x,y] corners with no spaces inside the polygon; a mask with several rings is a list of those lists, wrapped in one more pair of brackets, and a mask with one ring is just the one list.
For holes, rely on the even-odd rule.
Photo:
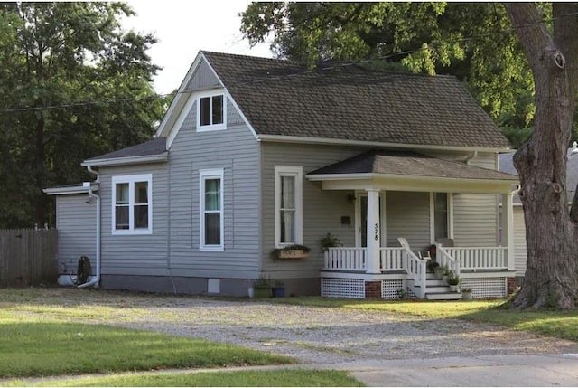
{"label": "neighbouring house partly hidden behind the large tree trunk", "polygon": [[[514,153],[509,152],[499,155],[499,171],[517,175],[514,166]],[[573,142],[573,147],[568,148],[566,163],[566,198],[568,205],[572,204],[576,185],[578,185],[578,143]],[[526,273],[527,247],[526,247],[526,222],[524,221],[524,209],[519,195],[514,195],[514,247],[516,261],[516,279],[521,284]]]}

